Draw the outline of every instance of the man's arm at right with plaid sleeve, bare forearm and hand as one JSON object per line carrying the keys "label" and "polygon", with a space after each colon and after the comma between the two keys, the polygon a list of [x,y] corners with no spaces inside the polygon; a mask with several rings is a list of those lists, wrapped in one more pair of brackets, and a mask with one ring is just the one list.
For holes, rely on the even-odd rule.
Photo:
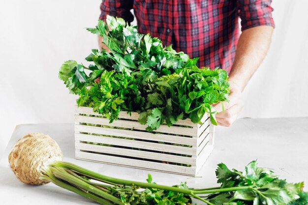
{"label": "man's arm at right with plaid sleeve, bare forearm and hand", "polygon": [[239,116],[244,106],[242,92],[270,47],[275,27],[271,3],[272,0],[237,0],[243,32],[229,73],[229,103],[224,103],[225,112],[221,104],[215,106],[219,125],[230,126]]}

